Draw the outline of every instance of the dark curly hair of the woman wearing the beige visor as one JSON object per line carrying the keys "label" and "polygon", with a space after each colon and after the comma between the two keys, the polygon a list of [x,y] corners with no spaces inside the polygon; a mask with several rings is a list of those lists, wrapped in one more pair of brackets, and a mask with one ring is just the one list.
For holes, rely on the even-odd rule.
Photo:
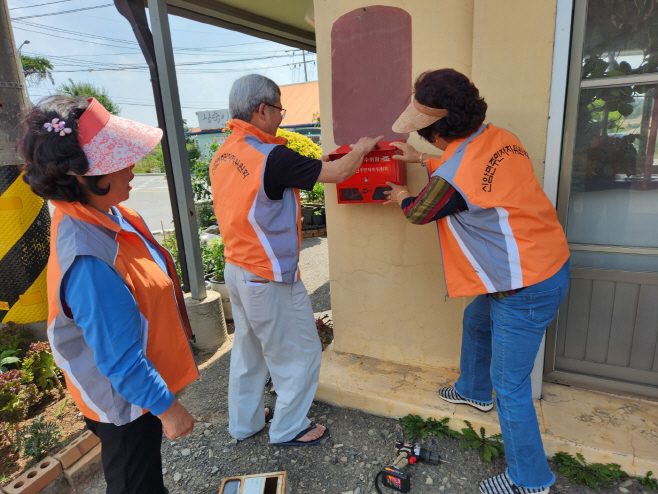
{"label": "dark curly hair of the woman wearing the beige visor", "polygon": [[416,79],[414,93],[419,103],[444,108],[448,116],[418,130],[429,142],[437,137],[446,141],[468,137],[478,130],[487,113],[480,91],[464,74],[453,69],[428,71]]}

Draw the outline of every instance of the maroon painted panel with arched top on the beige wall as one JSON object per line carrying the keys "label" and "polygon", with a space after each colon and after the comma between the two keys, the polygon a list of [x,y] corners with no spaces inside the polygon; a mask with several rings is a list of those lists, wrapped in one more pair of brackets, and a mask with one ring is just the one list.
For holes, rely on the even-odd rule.
{"label": "maroon painted panel with arched top on the beige wall", "polygon": [[331,91],[336,144],[362,136],[406,139],[391,130],[411,102],[411,16],[375,5],[340,17],[331,29]]}

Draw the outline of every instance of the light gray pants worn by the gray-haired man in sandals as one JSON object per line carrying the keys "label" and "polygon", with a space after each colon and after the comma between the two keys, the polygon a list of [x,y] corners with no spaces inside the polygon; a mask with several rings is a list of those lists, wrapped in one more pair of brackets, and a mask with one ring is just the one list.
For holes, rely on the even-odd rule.
{"label": "light gray pants worn by the gray-haired man in sandals", "polygon": [[270,442],[289,441],[310,424],[322,345],[301,280],[262,279],[226,263],[235,335],[228,385],[229,433],[245,439],[265,427],[263,388],[269,369],[277,393]]}

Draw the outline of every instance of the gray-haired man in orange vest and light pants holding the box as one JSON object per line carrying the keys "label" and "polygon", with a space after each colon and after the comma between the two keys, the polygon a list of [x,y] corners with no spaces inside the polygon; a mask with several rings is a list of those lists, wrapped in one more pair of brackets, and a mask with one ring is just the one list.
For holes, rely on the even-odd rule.
{"label": "gray-haired man in orange vest and light pants holding the box", "polygon": [[[257,74],[233,83],[229,110],[231,135],[210,164],[235,321],[229,433],[243,440],[272,420],[271,443],[316,444],[329,431],[307,417],[318,386],[322,346],[299,273],[299,189],[343,182],[381,136],[359,139],[336,161],[304,157],[276,137],[285,115],[281,91]],[[278,395],[276,414],[263,408],[268,370]]]}

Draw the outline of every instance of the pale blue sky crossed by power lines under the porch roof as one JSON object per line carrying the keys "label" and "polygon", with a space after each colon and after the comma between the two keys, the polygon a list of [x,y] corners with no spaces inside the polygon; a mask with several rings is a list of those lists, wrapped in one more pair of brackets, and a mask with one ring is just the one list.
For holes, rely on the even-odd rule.
{"label": "pale blue sky crossed by power lines under the porch roof", "polygon": [[[28,84],[30,100],[53,94],[69,79],[107,90],[120,115],[157,126],[148,67],[128,21],[111,0],[8,0],[16,48],[54,65],[55,85]],[[73,11],[73,12],[69,12]],[[183,118],[228,108],[233,81],[249,73],[280,86],[304,82],[302,51],[246,34],[169,16]],[[309,81],[317,80],[315,54],[306,52]]]}

